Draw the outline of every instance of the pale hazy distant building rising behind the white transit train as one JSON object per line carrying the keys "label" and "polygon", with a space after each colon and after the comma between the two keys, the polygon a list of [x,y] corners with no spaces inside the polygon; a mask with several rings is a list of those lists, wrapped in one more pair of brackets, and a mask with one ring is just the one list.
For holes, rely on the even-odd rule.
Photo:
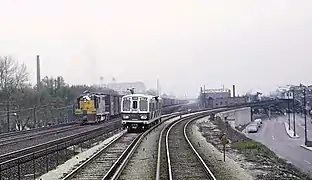
{"label": "pale hazy distant building rising behind the white transit train", "polygon": [[146,86],[143,82],[116,82],[108,83],[107,87],[117,91],[120,94],[128,94],[129,88],[134,88],[135,93],[145,93]]}

